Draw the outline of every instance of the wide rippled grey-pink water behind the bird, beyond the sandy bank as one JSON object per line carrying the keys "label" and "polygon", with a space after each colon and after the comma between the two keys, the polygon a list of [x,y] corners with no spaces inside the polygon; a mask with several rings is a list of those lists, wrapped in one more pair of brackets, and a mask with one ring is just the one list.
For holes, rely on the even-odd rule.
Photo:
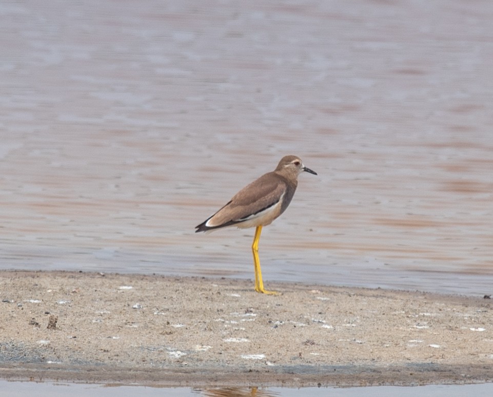
{"label": "wide rippled grey-pink water behind the bird, beyond the sandy bank", "polygon": [[493,3],[2,3],[0,269],[253,277],[193,233],[296,154],[264,281],[490,294]]}

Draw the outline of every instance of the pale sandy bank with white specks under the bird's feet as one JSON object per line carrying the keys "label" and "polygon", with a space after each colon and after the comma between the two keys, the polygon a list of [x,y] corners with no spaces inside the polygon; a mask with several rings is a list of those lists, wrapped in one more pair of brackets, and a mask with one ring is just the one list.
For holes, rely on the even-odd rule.
{"label": "pale sandy bank with white specks under the bird's feet", "polygon": [[483,296],[0,272],[0,377],[164,386],[493,381]]}

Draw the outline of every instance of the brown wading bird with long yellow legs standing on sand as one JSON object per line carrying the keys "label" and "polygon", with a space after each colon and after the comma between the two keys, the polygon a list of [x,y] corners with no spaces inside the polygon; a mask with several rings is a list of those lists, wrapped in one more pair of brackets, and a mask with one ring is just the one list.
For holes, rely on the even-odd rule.
{"label": "brown wading bird with long yellow legs standing on sand", "polygon": [[302,172],[318,175],[305,167],[298,156],[284,156],[274,171],[262,175],[236,193],[226,205],[195,226],[195,233],[208,232],[229,226],[240,229],[255,228],[252,243],[253,266],[255,271],[255,291],[275,295],[267,291],[262,280],[259,259],[259,240],[262,227],[279,217],[288,207],[298,186],[298,176]]}

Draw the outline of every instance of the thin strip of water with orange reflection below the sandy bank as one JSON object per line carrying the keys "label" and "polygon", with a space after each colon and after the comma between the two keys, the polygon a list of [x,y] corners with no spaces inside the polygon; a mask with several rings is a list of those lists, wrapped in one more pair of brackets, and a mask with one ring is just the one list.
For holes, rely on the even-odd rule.
{"label": "thin strip of water with orange reflection below the sandy bank", "polygon": [[70,393],[73,397],[85,397],[94,395],[96,392],[101,397],[113,397],[139,393],[145,397],[162,396],[168,397],[295,397],[307,395],[310,397],[326,396],[333,397],[360,397],[378,396],[402,397],[416,396],[421,397],[462,397],[464,395],[491,395],[493,384],[478,385],[429,385],[429,386],[374,386],[374,387],[305,387],[301,389],[290,389],[282,387],[269,388],[213,388],[213,389],[193,389],[193,388],[155,388],[144,386],[116,386],[116,385],[87,385],[75,383],[35,383],[35,382],[6,382],[0,381],[0,389],[8,393],[9,397],[25,396],[35,394],[40,397],[66,396]]}

